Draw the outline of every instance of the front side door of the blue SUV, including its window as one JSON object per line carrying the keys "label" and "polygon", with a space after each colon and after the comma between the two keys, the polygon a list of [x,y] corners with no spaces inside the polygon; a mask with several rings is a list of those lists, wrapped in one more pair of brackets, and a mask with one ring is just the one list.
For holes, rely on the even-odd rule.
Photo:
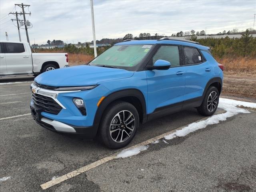
{"label": "front side door of the blue SUV, including its window", "polygon": [[162,45],[152,57],[152,63],[162,59],[170,62],[168,70],[147,70],[148,114],[162,111],[178,111],[184,100],[184,66],[182,66],[181,48],[176,45]]}

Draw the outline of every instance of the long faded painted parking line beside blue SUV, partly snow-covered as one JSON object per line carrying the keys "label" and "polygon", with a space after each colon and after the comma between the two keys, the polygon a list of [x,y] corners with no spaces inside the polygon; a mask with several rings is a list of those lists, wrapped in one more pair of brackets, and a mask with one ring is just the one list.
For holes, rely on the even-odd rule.
{"label": "long faded painted parking line beside blue SUV, partly snow-covered", "polygon": [[[216,113],[216,114],[220,114],[220,113],[223,113],[223,112],[224,112],[224,111],[220,111],[220,112],[218,112],[218,113]],[[199,122],[199,121],[202,121],[202,120],[206,120],[207,118],[208,118],[208,117],[202,118],[202,119],[200,119],[200,120],[198,120],[198,121],[196,121],[196,122]],[[156,137],[154,137],[154,138],[151,138],[151,139],[149,139],[149,140],[146,140],[146,141],[144,141],[144,142],[141,142],[141,143],[139,143],[139,144],[136,144],[136,145],[134,145],[134,146],[132,146],[132,147],[129,147],[129,148],[127,148],[126,150],[130,150],[130,149],[133,149],[133,148],[137,148],[137,147],[139,147],[139,146],[146,146],[146,145],[148,145],[148,144],[151,144],[152,142],[155,142],[155,141],[157,141],[157,140],[160,140],[160,139],[164,138],[165,136],[170,135],[170,134],[176,132],[177,130],[181,130],[182,128],[184,128],[184,127],[186,127],[186,126],[188,126],[188,125],[189,125],[189,124],[187,124],[187,125],[185,125],[185,126],[182,126],[182,127],[179,127],[179,128],[176,128],[176,129],[174,129],[174,130],[171,130],[171,131],[169,131],[169,132],[167,132],[167,133],[158,135],[158,136],[156,136]],[[118,151],[118,152],[116,152],[116,153],[114,153],[114,154],[112,154],[112,155],[110,155],[110,156],[107,156],[107,157],[105,157],[105,158],[102,158],[102,159],[100,159],[100,160],[98,160],[98,161],[96,161],[96,162],[93,162],[93,163],[91,163],[91,164],[88,164],[88,165],[86,165],[86,166],[84,166],[84,167],[82,167],[82,168],[79,168],[79,169],[77,169],[77,170],[74,170],[74,171],[72,171],[72,172],[70,172],[70,173],[67,173],[67,174],[65,174],[65,175],[63,175],[63,176],[57,177],[57,178],[54,179],[54,180],[50,180],[50,181],[48,181],[48,182],[46,182],[46,183],[44,183],[44,184],[41,184],[40,186],[41,186],[42,189],[50,188],[50,187],[52,187],[52,186],[54,186],[54,185],[56,185],[56,184],[59,184],[59,183],[65,181],[65,180],[68,180],[68,179],[70,179],[70,178],[72,178],[72,177],[74,177],[74,176],[77,176],[77,175],[79,175],[79,174],[81,174],[81,173],[83,173],[83,172],[86,172],[86,171],[91,170],[91,169],[93,169],[93,168],[96,168],[97,166],[100,166],[100,165],[102,165],[102,164],[104,164],[104,163],[106,163],[106,162],[109,162],[109,161],[111,161],[111,160],[113,160],[113,159],[118,158],[118,157],[117,157],[117,154],[119,154],[119,152],[120,152],[120,151]]]}

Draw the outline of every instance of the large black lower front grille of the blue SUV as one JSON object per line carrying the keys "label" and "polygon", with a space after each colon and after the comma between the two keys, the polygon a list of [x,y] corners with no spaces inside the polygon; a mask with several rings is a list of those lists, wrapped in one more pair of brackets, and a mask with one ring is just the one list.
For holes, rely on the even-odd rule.
{"label": "large black lower front grille of the blue SUV", "polygon": [[50,97],[32,93],[32,99],[44,112],[58,114],[62,110],[62,107]]}

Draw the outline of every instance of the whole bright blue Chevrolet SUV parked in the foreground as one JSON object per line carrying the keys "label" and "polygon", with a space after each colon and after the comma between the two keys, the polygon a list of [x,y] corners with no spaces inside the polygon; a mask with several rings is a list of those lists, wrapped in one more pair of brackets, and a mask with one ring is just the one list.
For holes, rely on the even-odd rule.
{"label": "whole bright blue Chevrolet SUV parked in the foreground", "polygon": [[140,123],[186,108],[214,114],[222,70],[198,42],[125,40],[88,65],[37,76],[31,84],[31,113],[49,130],[97,135],[109,148],[121,148]]}

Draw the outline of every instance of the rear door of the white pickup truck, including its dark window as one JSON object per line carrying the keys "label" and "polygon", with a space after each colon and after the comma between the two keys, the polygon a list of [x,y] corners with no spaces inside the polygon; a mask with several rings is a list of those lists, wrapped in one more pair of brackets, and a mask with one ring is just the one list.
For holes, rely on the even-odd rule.
{"label": "rear door of the white pickup truck, including its dark window", "polygon": [[32,73],[32,56],[23,43],[4,43],[6,48],[6,67],[8,74]]}

